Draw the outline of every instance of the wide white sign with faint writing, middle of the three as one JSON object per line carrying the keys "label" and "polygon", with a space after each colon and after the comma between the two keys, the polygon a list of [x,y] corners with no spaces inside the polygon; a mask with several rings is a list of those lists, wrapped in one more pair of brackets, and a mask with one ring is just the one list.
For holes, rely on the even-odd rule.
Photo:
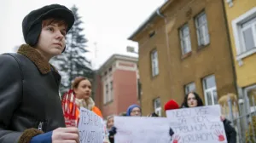
{"label": "wide white sign with faint writing, middle of the three", "polygon": [[114,117],[115,143],[170,142],[166,117]]}

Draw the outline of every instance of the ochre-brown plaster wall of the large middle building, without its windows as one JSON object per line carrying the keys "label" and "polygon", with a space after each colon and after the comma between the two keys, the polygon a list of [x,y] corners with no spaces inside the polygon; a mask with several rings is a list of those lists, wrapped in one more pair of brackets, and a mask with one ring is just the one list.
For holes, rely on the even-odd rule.
{"label": "ochre-brown plaster wall of the large middle building, without its windows", "polygon": [[[195,16],[203,10],[207,14],[210,43],[199,47]],[[154,112],[153,100],[157,97],[160,97],[161,106],[171,99],[182,103],[184,86],[191,82],[195,82],[196,92],[204,100],[202,79],[209,75],[215,76],[218,98],[223,94],[236,93],[222,0],[173,1],[163,13],[167,17],[166,22],[155,18],[135,37],[139,43],[143,114]],[[185,23],[189,25],[192,50],[182,55],[178,30]],[[155,31],[154,37],[148,37],[150,31]],[[152,77],[150,52],[154,49],[158,51],[160,73]]]}

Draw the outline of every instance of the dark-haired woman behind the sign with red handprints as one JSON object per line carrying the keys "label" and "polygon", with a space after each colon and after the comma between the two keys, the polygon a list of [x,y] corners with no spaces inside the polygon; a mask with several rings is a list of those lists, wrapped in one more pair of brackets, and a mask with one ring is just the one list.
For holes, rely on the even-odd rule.
{"label": "dark-haired woman behind the sign with red handprints", "polygon": [[[183,107],[191,108],[196,106],[204,106],[199,94],[190,92],[183,100]],[[221,117],[224,123],[224,129],[227,136],[228,143],[236,143],[236,130],[230,125],[230,121]]]}

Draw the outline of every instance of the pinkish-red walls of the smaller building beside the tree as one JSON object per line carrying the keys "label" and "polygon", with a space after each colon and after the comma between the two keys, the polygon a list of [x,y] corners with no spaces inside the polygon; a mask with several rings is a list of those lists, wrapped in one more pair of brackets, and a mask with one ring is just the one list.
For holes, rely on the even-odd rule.
{"label": "pinkish-red walls of the smaller building beside the tree", "polygon": [[[126,112],[128,106],[131,104],[138,104],[137,102],[137,63],[127,60],[114,60],[112,64],[112,71],[109,72],[110,66],[106,66],[102,70],[102,113],[103,117],[109,115],[118,115],[121,112]],[[105,73],[107,71],[107,73]],[[112,100],[105,103],[104,94],[106,93],[106,83],[113,82],[113,89],[109,92],[112,94]]]}

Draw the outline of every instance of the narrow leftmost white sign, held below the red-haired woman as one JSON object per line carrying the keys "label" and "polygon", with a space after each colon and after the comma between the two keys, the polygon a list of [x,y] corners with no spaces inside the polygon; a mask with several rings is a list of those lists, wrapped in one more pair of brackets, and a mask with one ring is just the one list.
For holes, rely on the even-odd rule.
{"label": "narrow leftmost white sign, held below the red-haired woman", "polygon": [[96,113],[80,107],[79,140],[80,143],[102,143],[104,123]]}

